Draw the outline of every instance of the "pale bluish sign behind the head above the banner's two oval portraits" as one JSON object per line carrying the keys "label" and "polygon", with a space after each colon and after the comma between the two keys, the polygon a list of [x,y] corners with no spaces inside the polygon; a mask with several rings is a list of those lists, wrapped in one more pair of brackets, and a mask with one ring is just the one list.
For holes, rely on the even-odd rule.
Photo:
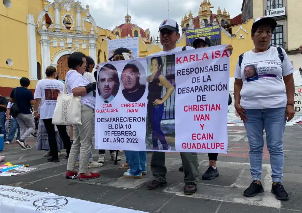
{"label": "pale bluish sign behind the head above the banner's two oval portraits", "polygon": [[133,52],[134,58],[139,57],[139,38],[124,38],[124,39],[115,39],[108,40],[108,58],[110,58],[116,49],[118,48],[127,48]]}

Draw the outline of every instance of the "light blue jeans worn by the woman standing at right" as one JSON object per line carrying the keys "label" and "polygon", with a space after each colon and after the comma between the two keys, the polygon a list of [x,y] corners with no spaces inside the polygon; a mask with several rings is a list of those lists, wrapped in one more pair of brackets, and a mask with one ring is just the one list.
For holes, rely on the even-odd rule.
{"label": "light blue jeans worn by the woman standing at right", "polygon": [[286,108],[246,110],[245,114],[247,121],[244,125],[249,141],[250,173],[253,180],[260,181],[262,176],[263,129],[265,129],[272,181],[281,182],[284,167],[283,135]]}

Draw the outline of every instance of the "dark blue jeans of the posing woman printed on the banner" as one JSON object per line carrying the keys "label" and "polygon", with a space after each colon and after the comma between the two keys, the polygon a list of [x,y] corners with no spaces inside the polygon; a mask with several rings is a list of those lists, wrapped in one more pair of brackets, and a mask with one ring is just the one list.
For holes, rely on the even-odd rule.
{"label": "dark blue jeans of the posing woman printed on the banner", "polygon": [[149,121],[152,127],[152,141],[153,141],[153,148],[158,148],[158,139],[161,142],[163,149],[168,150],[169,145],[166,142],[164,133],[161,130],[161,120],[162,120],[162,115],[164,112],[164,105],[158,105],[158,106],[153,106],[153,105],[148,105],[148,117]]}

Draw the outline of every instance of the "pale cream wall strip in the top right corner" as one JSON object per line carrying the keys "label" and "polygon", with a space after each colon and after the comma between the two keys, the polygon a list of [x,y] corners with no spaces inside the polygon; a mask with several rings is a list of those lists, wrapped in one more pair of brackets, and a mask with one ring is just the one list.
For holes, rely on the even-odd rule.
{"label": "pale cream wall strip in the top right corner", "polygon": [[287,0],[288,50],[296,50],[302,45],[301,8],[302,0]]}

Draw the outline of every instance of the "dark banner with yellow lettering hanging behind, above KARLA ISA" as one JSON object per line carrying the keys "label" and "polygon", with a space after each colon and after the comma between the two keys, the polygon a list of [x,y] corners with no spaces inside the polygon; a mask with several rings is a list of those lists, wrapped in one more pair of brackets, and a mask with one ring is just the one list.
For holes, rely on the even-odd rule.
{"label": "dark banner with yellow lettering hanging behind, above KARLA ISA", "polygon": [[221,26],[219,24],[198,29],[187,29],[186,45],[193,46],[193,42],[199,37],[208,37],[213,46],[221,45]]}

